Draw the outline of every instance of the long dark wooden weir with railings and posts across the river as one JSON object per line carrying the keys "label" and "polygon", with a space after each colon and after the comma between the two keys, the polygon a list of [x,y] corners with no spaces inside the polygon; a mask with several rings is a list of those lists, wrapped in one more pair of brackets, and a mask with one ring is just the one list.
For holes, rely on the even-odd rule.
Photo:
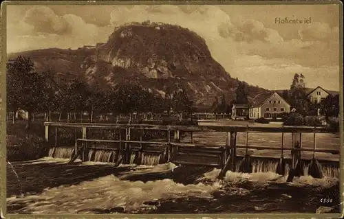
{"label": "long dark wooden weir with railings and posts across the river", "polygon": [[[76,139],[74,156],[70,163],[74,162],[78,157],[82,161],[87,161],[88,150],[111,150],[118,152],[118,160],[116,165],[120,163],[127,164],[130,162],[131,154],[135,155],[135,163],[140,165],[143,152],[150,152],[161,154],[160,163],[173,162],[179,165],[203,165],[213,166],[214,168],[221,168],[217,178],[222,179],[228,170],[236,171],[237,165],[237,149],[256,150],[281,150],[283,157],[283,150],[291,151],[291,169],[297,173],[301,173],[301,151],[310,152],[327,152],[332,154],[339,154],[338,150],[331,149],[316,149],[315,135],[316,133],[330,133],[332,130],[323,127],[306,127],[306,126],[156,126],[145,124],[87,124],[87,123],[60,123],[60,122],[45,122],[45,141],[49,142],[50,127],[55,127],[55,144],[57,141],[58,127],[80,128],[82,130],[82,138]],[[111,129],[116,132],[119,130],[118,140],[108,139],[88,139],[87,130],[91,128]],[[140,130],[140,140],[131,140],[131,130]],[[142,135],[144,130],[163,130],[166,132],[165,141],[143,141]],[[189,132],[191,134],[191,141],[181,142],[180,133]],[[193,132],[226,132],[226,143],[223,146],[200,146],[193,143]],[[246,144],[244,146],[237,145],[237,133],[246,132]],[[282,141],[281,147],[270,146],[249,146],[248,133],[249,132],[268,132],[281,133]],[[284,142],[284,134],[292,133],[292,147],[286,147]],[[171,139],[173,133],[173,141]],[[302,148],[301,134],[314,133],[314,148]],[[114,146],[110,148],[89,146],[89,143],[113,143]],[[133,147],[133,144],[138,144],[139,147]],[[160,150],[152,150],[147,146],[159,146]],[[184,159],[182,159],[184,157]],[[185,158],[186,157],[186,158]],[[191,159],[193,157],[193,159]],[[195,159],[196,158],[196,159]],[[208,160],[213,160],[213,162]],[[215,162],[214,162],[215,160]],[[300,174],[294,174],[299,176]],[[292,176],[293,178],[293,176]]]}

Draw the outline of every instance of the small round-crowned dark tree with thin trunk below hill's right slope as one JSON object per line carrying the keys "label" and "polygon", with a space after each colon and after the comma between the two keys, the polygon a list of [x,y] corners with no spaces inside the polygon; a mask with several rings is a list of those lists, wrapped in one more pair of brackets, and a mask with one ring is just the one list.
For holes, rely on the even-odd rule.
{"label": "small round-crowned dark tree with thin trunk below hill's right slope", "polygon": [[171,106],[173,111],[179,114],[180,121],[182,121],[183,113],[191,113],[193,102],[189,100],[185,91],[179,90],[173,93]]}

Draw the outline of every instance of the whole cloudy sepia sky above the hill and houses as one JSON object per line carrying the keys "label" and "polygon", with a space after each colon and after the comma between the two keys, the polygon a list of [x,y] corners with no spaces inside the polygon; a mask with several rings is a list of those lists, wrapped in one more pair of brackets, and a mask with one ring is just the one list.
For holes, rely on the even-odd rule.
{"label": "whole cloudy sepia sky above the hill and houses", "polygon": [[339,5],[7,7],[8,53],[105,43],[117,25],[150,20],[193,30],[230,76],[248,84],[288,89],[302,73],[307,87],[339,91]]}

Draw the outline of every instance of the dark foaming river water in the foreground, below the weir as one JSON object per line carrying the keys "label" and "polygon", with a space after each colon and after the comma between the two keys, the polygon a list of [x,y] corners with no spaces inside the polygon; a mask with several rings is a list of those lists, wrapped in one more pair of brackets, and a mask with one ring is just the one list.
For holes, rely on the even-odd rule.
{"label": "dark foaming river water in the foreground, below the weir", "polygon": [[[106,163],[66,162],[44,158],[12,163],[19,179],[8,165],[8,213],[314,213],[321,198],[332,198],[338,205],[338,179],[328,176],[301,176],[286,183],[285,176],[274,172],[227,172],[217,181],[218,169],[191,174],[171,163],[127,165],[115,171]],[[145,181],[130,178],[166,170],[175,174]],[[185,183],[189,178],[193,182]]]}

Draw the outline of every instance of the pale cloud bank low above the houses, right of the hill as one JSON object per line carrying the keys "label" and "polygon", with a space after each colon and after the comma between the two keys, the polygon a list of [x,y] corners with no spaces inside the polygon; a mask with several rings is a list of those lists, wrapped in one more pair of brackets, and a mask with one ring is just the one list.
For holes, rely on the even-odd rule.
{"label": "pale cloud bank low above the houses, right of the hill", "polygon": [[257,55],[244,55],[237,57],[233,71],[239,80],[266,89],[288,89],[294,73],[305,76],[307,87],[321,86],[334,91],[340,88],[338,66],[304,67],[281,58],[271,60]]}

